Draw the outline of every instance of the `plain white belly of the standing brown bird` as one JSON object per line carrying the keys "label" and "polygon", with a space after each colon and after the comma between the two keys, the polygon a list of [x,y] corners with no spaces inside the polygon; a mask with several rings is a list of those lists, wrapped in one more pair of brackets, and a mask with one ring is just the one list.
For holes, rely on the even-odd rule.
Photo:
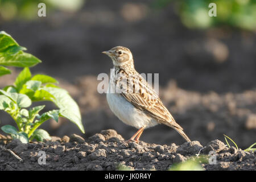
{"label": "plain white belly of the standing brown bird", "polygon": [[109,89],[108,93],[106,94],[109,107],[122,122],[126,123],[127,125],[134,126],[137,129],[141,127],[147,128],[158,125],[155,119],[151,118],[143,111],[136,109],[121,94],[110,93]]}

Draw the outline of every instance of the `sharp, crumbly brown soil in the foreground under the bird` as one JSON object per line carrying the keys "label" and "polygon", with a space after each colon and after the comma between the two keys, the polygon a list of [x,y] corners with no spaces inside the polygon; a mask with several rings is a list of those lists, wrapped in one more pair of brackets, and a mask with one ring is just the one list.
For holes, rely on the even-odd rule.
{"label": "sharp, crumbly brown soil in the foreground under the bird", "polygon": [[[1,141],[1,140],[0,140]],[[3,144],[3,140],[2,140]],[[198,141],[177,146],[125,142],[115,130],[104,130],[88,139],[73,134],[71,137],[52,137],[45,142],[8,142],[0,149],[2,170],[117,170],[125,164],[135,170],[167,170],[175,163],[184,162],[196,154],[217,153],[217,164],[203,163],[205,170],[255,170],[256,152],[227,148],[220,140],[213,140],[203,148]],[[201,150],[203,148],[203,150]],[[13,154],[21,158],[18,160]],[[200,151],[201,150],[201,151]],[[46,152],[46,164],[39,164],[39,151]]]}

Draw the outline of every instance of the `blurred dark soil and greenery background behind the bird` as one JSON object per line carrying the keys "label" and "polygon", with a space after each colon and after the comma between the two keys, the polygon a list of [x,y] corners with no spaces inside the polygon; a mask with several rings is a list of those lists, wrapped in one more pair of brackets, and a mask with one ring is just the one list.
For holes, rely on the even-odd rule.
{"label": "blurred dark soil and greenery background behind the bird", "polygon": [[[38,17],[40,2],[46,17]],[[211,2],[216,17],[208,15]],[[0,30],[43,61],[32,74],[56,77],[80,106],[85,134],[61,118],[42,125],[51,135],[88,138],[114,129],[129,139],[137,131],[119,121],[97,92],[97,75],[113,67],[101,52],[125,46],[139,73],[159,73],[160,98],[192,140],[205,145],[226,134],[241,148],[255,142],[254,0],[0,0]],[[1,77],[0,88],[13,84],[20,70]],[[0,127],[14,124],[3,111],[0,121]],[[162,125],[144,131],[141,140],[184,142]]]}

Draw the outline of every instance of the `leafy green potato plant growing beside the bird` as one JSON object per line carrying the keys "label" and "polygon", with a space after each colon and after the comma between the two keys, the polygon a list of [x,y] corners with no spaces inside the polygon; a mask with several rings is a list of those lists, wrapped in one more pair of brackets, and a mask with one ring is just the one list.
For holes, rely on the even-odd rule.
{"label": "leafy green potato plant growing beside the bird", "polygon": [[[2,126],[1,129],[11,137],[23,143],[32,139],[42,141],[49,139],[49,134],[38,129],[43,122],[59,117],[69,119],[84,133],[81,114],[76,102],[69,96],[67,90],[61,89],[55,78],[47,75],[31,75],[29,67],[41,61],[35,56],[23,52],[26,48],[18,43],[6,32],[0,32],[0,76],[10,74],[10,69],[4,66],[23,67],[13,85],[0,89],[0,110],[6,111],[16,122],[16,127]],[[45,105],[31,107],[32,102],[51,101],[58,109],[40,114]]]}

